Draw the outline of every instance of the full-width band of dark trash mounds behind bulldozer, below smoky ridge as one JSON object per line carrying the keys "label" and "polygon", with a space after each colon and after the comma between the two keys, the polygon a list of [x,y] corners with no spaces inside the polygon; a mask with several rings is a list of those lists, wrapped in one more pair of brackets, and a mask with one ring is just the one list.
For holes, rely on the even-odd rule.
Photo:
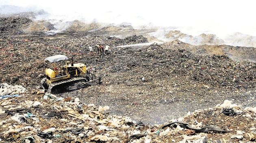
{"label": "full-width band of dark trash mounds behind bulldozer, below smoky ridge", "polygon": [[[85,53],[87,51],[87,45],[93,45],[93,43],[106,43],[112,47],[121,45],[122,43],[137,44],[141,42],[147,42],[145,37],[129,36],[125,39],[115,37],[63,38],[58,39],[58,41],[47,38],[31,38],[29,40],[14,39],[11,43],[14,45],[11,50],[1,51],[3,53],[0,56],[2,59],[9,59],[10,56],[6,53],[15,54],[10,61],[11,64],[6,65],[5,69],[2,69],[6,72],[1,72],[0,75],[2,75],[0,77],[2,78],[2,82],[18,82],[33,85],[36,83],[35,80],[40,80],[38,71],[43,73],[43,69],[46,67],[43,59],[52,55],[67,54],[62,50],[68,51],[68,53],[87,54]],[[0,41],[0,45],[6,46],[6,43],[8,43],[6,40]],[[10,48],[8,46],[3,46],[3,49]],[[61,49],[58,47],[61,47]],[[124,55],[124,57],[120,57],[120,55]],[[161,45],[152,44],[139,48],[111,48],[111,56],[105,57],[104,59],[98,56],[93,56],[93,58],[91,56],[74,56],[76,56],[76,61],[90,63],[90,65],[106,69],[111,73],[134,71],[140,68],[145,69],[141,71],[155,71],[150,72],[152,74],[151,77],[158,76],[161,78],[161,76],[178,75],[187,76],[186,80],[211,84],[221,88],[255,87],[256,64],[234,62],[226,55],[195,56],[186,50],[170,50],[163,48]],[[27,61],[33,62],[28,64]],[[32,70],[29,71],[28,69]],[[158,69],[161,69],[161,72],[158,72]],[[10,73],[7,70],[13,72],[6,74]],[[19,73],[15,71],[19,71]],[[27,77],[27,74],[30,76]],[[24,81],[24,78],[27,80]],[[31,82],[33,80],[34,82]]]}

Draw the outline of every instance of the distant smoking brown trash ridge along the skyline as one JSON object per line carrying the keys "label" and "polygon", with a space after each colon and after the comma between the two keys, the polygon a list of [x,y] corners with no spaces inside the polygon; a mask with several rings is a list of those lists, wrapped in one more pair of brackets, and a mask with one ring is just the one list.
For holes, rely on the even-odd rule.
{"label": "distant smoking brown trash ridge along the skyline", "polygon": [[[44,11],[39,11],[37,13],[29,13],[28,15],[31,14],[43,15],[46,13]],[[143,41],[161,41],[161,38],[157,39],[153,36],[154,34],[151,34],[151,32],[156,32],[156,29],[134,29],[131,27],[131,25],[102,25],[102,23],[84,23],[78,20],[65,22],[46,19],[40,21],[32,21],[26,18],[24,15],[26,14],[17,13],[13,15],[15,17],[5,17],[0,15],[0,37],[24,37],[28,35],[48,36],[48,34],[56,34],[56,37],[116,36],[119,38],[125,38],[132,35],[142,35],[147,39]],[[30,16],[28,17],[31,18]],[[237,36],[236,34],[236,37],[243,36],[239,36],[239,34]],[[166,34],[166,38],[169,39],[170,42],[164,43],[164,48],[182,48],[189,50],[196,55],[228,55],[234,61],[256,62],[256,48],[223,45],[224,42],[213,34],[200,34],[199,36],[193,37],[187,34],[183,34],[180,31],[169,31],[169,33]],[[252,39],[253,37],[248,37],[245,38],[245,41],[242,40],[243,42],[241,42],[241,39],[238,38],[236,41],[241,43],[250,43],[249,45],[255,45],[251,41]]]}

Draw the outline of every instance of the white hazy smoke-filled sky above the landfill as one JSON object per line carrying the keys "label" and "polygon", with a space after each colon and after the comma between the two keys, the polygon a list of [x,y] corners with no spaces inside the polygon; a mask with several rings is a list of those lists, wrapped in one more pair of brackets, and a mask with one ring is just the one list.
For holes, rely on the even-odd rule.
{"label": "white hazy smoke-filled sky above the landfill", "polygon": [[54,19],[178,27],[194,36],[256,36],[256,0],[0,0],[0,5],[44,9]]}

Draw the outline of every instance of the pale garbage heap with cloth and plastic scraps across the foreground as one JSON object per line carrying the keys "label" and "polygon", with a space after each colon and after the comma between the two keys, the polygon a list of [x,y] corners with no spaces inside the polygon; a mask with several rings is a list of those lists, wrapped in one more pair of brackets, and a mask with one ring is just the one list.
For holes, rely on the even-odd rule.
{"label": "pale garbage heap with cloth and plastic scraps across the foreground", "polygon": [[78,98],[34,92],[0,99],[0,142],[26,143],[252,143],[256,107],[224,101],[163,125],[108,114]]}

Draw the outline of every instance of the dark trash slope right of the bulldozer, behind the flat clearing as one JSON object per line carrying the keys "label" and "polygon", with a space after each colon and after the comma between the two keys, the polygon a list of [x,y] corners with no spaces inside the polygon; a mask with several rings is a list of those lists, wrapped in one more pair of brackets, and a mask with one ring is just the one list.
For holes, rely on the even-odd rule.
{"label": "dark trash slope right of the bulldozer, behind the flat clearing", "polygon": [[[93,63],[94,66],[97,65],[110,73],[140,69],[140,74],[147,76],[148,82],[157,80],[153,77],[165,81],[168,76],[178,76],[182,78],[179,81],[183,84],[190,81],[226,89],[255,87],[256,63],[234,62],[226,55],[195,56],[186,50],[165,49],[158,44],[137,48],[123,47],[112,51],[117,54],[105,59],[85,57],[80,60]],[[104,60],[111,62],[102,64]],[[139,82],[136,79],[119,81],[126,84],[130,84],[130,81]]]}

